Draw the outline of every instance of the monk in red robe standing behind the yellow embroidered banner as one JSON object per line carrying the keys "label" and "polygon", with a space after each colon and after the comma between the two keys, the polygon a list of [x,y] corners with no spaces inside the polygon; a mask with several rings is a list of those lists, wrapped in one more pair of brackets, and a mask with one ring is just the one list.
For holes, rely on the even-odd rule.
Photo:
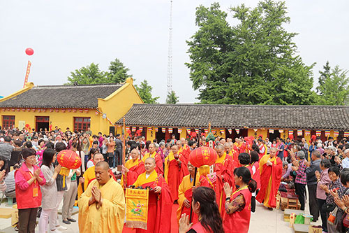
{"label": "monk in red robe standing behind the yellow embroidered banner", "polygon": [[168,185],[162,175],[156,173],[153,157],[144,162],[145,173],[138,176],[133,185],[143,188],[150,187],[148,199],[147,230],[136,229],[136,232],[170,233],[172,197]]}

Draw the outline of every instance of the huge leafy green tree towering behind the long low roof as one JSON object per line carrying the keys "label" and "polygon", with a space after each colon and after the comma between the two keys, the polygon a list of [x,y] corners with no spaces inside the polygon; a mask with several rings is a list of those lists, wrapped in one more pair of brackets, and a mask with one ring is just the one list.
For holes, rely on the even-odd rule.
{"label": "huge leafy green tree towering behind the long low roof", "polygon": [[312,67],[295,55],[296,35],[283,2],[260,1],[256,8],[199,6],[198,31],[187,41],[193,88],[207,104],[314,104]]}

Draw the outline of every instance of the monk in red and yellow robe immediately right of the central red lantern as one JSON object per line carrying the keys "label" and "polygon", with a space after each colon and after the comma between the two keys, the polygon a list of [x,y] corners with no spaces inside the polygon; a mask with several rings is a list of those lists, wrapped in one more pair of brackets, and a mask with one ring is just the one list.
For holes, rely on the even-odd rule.
{"label": "monk in red and yellow robe immediately right of the central red lantern", "polygon": [[216,185],[214,191],[216,192],[216,202],[218,205],[219,212],[222,217],[225,213],[224,204],[225,204],[225,193],[223,191],[224,183],[228,183],[235,189],[234,176],[232,175],[234,171],[232,157],[227,155],[224,151],[222,145],[216,146],[217,160],[214,164],[214,172],[216,173]]}

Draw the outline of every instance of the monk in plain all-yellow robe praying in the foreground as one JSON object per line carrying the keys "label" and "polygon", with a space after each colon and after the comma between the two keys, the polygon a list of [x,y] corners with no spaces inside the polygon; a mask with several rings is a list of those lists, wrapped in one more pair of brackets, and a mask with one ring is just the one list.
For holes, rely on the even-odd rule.
{"label": "monk in plain all-yellow robe praying in the foreground", "polygon": [[125,219],[125,196],[121,185],[110,176],[107,162],[95,166],[92,181],[77,202],[79,231],[84,233],[122,232]]}

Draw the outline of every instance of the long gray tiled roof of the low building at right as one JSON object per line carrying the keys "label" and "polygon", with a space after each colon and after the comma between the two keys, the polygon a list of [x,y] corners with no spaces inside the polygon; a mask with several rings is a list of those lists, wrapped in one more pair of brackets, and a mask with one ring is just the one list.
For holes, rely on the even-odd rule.
{"label": "long gray tiled roof of the low building at right", "polygon": [[[133,104],[126,125],[156,127],[349,129],[349,106]],[[122,118],[117,121],[122,124]]]}

